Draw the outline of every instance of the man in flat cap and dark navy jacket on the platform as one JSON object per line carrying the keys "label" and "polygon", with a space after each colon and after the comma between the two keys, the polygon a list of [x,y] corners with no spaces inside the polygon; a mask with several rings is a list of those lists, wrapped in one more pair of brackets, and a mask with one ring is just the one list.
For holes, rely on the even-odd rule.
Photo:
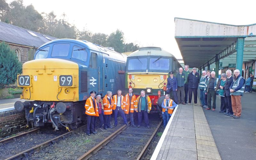
{"label": "man in flat cap and dark navy jacket on the platform", "polygon": [[193,68],[188,75],[188,105],[191,105],[192,93],[194,94],[194,105],[197,105],[197,88],[200,82],[200,75],[196,70],[197,68]]}

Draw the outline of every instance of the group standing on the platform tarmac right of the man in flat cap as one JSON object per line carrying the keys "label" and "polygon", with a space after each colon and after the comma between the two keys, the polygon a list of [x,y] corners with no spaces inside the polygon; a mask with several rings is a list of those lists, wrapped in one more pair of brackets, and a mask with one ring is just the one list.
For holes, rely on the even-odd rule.
{"label": "group standing on the platform tarmac right of the man in flat cap", "polygon": [[[227,70],[216,78],[215,72],[203,71],[200,79],[200,101],[205,110],[215,111],[216,95],[220,95],[220,113],[233,118],[241,118],[241,96],[244,95],[244,78],[238,69]],[[213,103],[212,103],[213,101]]]}

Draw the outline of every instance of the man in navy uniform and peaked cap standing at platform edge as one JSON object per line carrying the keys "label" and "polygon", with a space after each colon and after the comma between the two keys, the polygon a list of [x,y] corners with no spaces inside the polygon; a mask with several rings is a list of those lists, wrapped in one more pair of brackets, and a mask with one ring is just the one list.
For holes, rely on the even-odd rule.
{"label": "man in navy uniform and peaked cap standing at platform edge", "polygon": [[167,78],[167,86],[166,86],[166,93],[170,94],[172,92],[174,102],[178,103],[178,96],[177,96],[177,89],[178,89],[178,83],[176,77],[173,76],[173,72],[169,72],[170,77]]}

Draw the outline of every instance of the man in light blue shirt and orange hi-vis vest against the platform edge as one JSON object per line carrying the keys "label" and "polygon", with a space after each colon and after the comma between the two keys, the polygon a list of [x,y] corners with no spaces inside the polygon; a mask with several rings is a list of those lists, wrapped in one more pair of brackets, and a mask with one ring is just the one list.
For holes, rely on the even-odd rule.
{"label": "man in light blue shirt and orange hi-vis vest against the platform edge", "polygon": [[177,104],[170,99],[170,95],[166,94],[165,95],[165,99],[162,103],[162,114],[163,114],[163,121],[164,121],[164,128],[166,127],[170,116],[172,116],[172,112],[174,110],[174,108],[177,106]]}

